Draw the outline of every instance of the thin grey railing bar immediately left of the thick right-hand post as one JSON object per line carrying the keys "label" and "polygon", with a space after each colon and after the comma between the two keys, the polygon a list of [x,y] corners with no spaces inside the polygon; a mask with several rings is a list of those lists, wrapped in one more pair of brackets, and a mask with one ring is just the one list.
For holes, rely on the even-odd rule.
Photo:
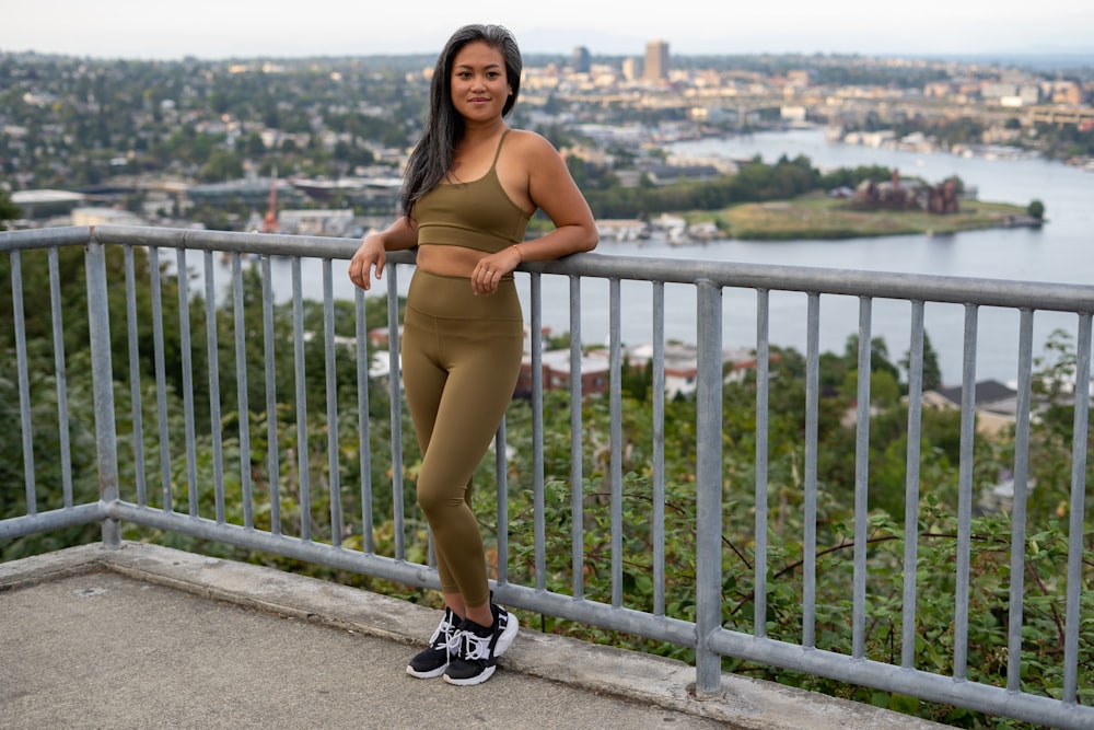
{"label": "thin grey railing bar immediately left of the thick right-hand post", "polygon": [[665,615],[665,282],[653,282],[653,615]]}

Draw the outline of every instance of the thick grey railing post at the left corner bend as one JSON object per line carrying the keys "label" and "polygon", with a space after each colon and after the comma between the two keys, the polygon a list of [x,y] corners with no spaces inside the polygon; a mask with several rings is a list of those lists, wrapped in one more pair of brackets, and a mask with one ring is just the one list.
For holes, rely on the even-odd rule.
{"label": "thick grey railing post at the left corner bend", "polygon": [[[88,276],[88,325],[91,335],[91,380],[95,402],[95,451],[98,462],[98,498],[104,505],[118,499],[118,444],[114,424],[114,366],[110,362],[110,312],[107,305],[106,247],[91,229],[84,248]],[[103,519],[103,545],[121,545],[121,526]]]}

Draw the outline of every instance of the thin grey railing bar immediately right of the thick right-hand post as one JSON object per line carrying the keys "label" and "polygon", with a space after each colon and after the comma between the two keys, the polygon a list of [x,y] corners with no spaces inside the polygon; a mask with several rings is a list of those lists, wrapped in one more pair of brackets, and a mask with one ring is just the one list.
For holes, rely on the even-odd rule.
{"label": "thin grey railing bar immediately right of the thick right-hand post", "polygon": [[753,529],[753,636],[767,636],[767,524],[768,524],[768,391],[770,366],[770,292],[756,290],[756,514]]}

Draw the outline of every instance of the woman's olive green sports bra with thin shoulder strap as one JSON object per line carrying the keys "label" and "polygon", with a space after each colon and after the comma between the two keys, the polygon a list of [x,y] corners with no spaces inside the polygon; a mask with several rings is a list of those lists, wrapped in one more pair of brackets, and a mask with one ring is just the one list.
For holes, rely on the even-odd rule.
{"label": "woman's olive green sports bra with thin shoulder strap", "polygon": [[528,216],[505,194],[498,179],[498,140],[490,170],[469,183],[442,183],[415,202],[418,244],[464,246],[498,253],[524,240]]}

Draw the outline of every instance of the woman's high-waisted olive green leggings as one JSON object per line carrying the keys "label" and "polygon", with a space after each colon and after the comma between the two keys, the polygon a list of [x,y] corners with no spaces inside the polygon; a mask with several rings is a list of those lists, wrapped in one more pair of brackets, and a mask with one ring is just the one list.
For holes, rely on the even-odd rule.
{"label": "woman's high-waisted olive green leggings", "polygon": [[403,384],[422,451],[418,503],[429,521],[444,593],[490,599],[472,478],[513,397],[524,318],[513,278],[489,297],[466,278],[417,269],[403,325]]}

